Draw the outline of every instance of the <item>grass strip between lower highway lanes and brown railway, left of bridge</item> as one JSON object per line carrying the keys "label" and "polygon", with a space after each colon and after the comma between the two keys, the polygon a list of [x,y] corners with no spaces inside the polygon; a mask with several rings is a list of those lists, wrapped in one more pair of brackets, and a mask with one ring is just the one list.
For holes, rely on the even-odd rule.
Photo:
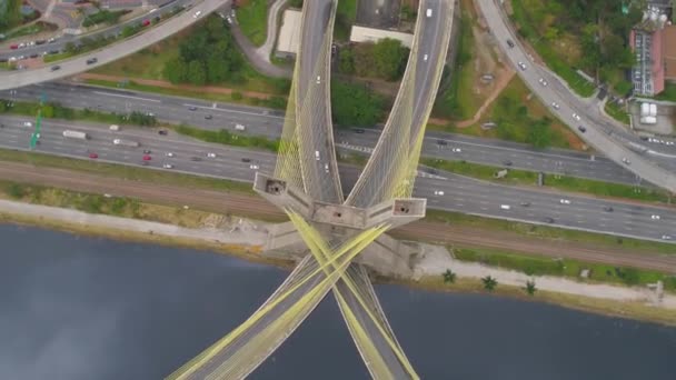
{"label": "grass strip between lower highway lanes and brown railway, left of bridge", "polygon": [[254,193],[251,184],[221,180],[208,177],[170,173],[160,170],[128,167],[116,163],[96,162],[90,160],[78,160],[66,157],[50,156],[36,152],[22,152],[0,149],[1,161],[31,163],[37,167],[58,168],[74,170],[89,174],[107,176],[126,180],[151,182],[186,188],[200,188],[208,190],[231,191],[240,193]]}

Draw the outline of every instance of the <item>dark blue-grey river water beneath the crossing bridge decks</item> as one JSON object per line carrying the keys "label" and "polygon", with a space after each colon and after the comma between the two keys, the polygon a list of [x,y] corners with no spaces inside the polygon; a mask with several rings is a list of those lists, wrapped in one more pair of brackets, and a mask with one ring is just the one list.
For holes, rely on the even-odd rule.
{"label": "dark blue-grey river water beneath the crossing bridge decks", "polygon": [[[0,224],[0,379],[161,379],[285,271]],[[378,286],[424,379],[676,379],[676,329],[483,294]],[[328,297],[251,379],[368,379]]]}

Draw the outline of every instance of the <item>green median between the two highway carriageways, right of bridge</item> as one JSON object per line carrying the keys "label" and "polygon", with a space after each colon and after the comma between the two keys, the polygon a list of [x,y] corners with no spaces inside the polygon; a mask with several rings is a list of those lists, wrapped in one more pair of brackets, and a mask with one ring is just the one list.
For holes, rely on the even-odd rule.
{"label": "green median between the two highway carriageways, right of bridge", "polygon": [[[504,168],[467,161],[446,161],[429,158],[421,158],[420,163],[453,173],[488,180],[496,183],[514,186],[537,184],[537,172],[534,171],[508,169],[506,177],[496,179],[494,178],[494,174]],[[603,182],[566,176],[545,174],[545,187],[563,191],[583,192],[597,197],[624,198],[649,202],[670,203],[673,200],[667,192],[656,189],[638,188],[639,192],[637,192],[637,188],[629,184]]]}

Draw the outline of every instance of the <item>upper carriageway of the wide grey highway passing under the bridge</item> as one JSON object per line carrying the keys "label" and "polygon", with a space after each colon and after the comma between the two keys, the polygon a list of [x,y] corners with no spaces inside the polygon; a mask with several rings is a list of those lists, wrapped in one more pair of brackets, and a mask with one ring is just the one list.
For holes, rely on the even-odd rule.
{"label": "upper carriageway of the wide grey highway passing under the bridge", "polygon": [[[210,130],[226,128],[235,131],[235,126],[241,123],[247,128],[243,133],[274,139],[279,138],[284,123],[284,112],[278,110],[89,86],[48,82],[0,91],[0,98],[8,100],[37,101],[42,96],[47,101],[57,101],[69,108],[89,108],[117,113],[152,112],[163,122],[187,123]],[[188,111],[189,107],[197,107],[197,110]],[[206,116],[212,118],[205,119]],[[358,133],[362,131],[364,133]],[[379,129],[337,130],[335,141],[338,147],[366,150],[375,147],[379,133]],[[561,149],[536,150],[509,141],[436,131],[426,132],[422,156],[496,167],[509,166],[514,169],[609,182],[637,183],[634,173],[602,156]]]}

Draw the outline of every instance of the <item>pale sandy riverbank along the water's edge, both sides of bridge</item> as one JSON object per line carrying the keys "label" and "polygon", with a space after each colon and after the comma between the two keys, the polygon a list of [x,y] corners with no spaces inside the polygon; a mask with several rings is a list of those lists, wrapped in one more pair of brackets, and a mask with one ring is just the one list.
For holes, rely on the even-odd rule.
{"label": "pale sandy riverbank along the water's edge, both sides of bridge", "polygon": [[[286,269],[292,262],[261,254],[267,233],[265,222],[237,218],[220,228],[190,229],[173,224],[127,219],[81,211],[0,200],[0,222],[22,223],[48,229],[106,237],[116,240],[179,246],[232,254],[246,260]],[[556,277],[528,277],[524,273],[455,260],[440,246],[424,244],[424,254],[415,263],[411,279],[379,279],[435,291],[483,291],[480,278],[498,281],[499,296],[518,297],[564,307],[676,326],[676,296],[658,297],[646,288],[578,282]],[[451,269],[458,279],[444,283],[443,273]],[[529,297],[523,290],[534,280],[537,292]]]}

